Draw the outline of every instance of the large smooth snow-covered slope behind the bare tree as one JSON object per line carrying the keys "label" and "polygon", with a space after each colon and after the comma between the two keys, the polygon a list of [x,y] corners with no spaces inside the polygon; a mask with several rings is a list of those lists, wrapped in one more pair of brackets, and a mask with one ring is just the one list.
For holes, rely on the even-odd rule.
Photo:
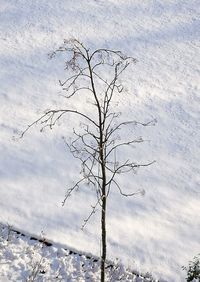
{"label": "large smooth snow-covered slope behind the bare tree", "polygon": [[200,251],[199,1],[0,1],[0,221],[100,253],[99,214],[80,230],[92,191],[83,187],[61,206],[79,178],[61,138],[70,136],[74,118],[13,139],[43,110],[66,103],[58,85],[64,62],[47,54],[72,36],[137,58],[119,108],[125,119],[158,121],[127,132],[151,140],[130,150],[132,158],[156,164],[122,179],[127,191],[145,189],[144,197],[112,191],[108,256],[155,278],[184,281],[181,266]]}

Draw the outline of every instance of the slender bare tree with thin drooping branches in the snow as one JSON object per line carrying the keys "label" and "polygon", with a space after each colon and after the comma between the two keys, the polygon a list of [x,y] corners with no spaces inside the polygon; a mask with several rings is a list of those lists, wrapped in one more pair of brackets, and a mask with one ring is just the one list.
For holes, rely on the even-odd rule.
{"label": "slender bare tree with thin drooping branches in the snow", "polygon": [[[121,113],[115,110],[115,95],[122,95],[124,87],[121,83],[123,72],[136,59],[124,55],[121,51],[112,49],[96,49],[91,51],[76,39],[65,40],[63,45],[50,54],[54,57],[57,53],[64,52],[67,57],[65,69],[69,76],[64,81],[59,81],[65,91],[63,96],[73,100],[83,95],[89,98],[90,108],[81,111],[77,108],[63,108],[47,110],[30,127],[40,124],[43,130],[52,129],[66,114],[80,116],[82,122],[79,129],[73,129],[73,138],[64,139],[70,152],[81,162],[82,178],[67,190],[63,205],[68,197],[84,182],[93,186],[96,191],[96,203],[92,206],[91,213],[85,219],[82,228],[87,224],[98,206],[101,207],[101,282],[105,281],[106,262],[106,209],[110,189],[115,187],[122,196],[130,197],[141,191],[125,193],[118,182],[121,174],[135,172],[139,167],[146,167],[153,162],[145,164],[136,163],[130,159],[118,160],[117,152],[126,146],[141,143],[140,138],[121,141],[120,129],[133,125],[149,126],[154,123],[140,123],[132,120],[123,121]],[[77,100],[75,100],[77,101]],[[74,101],[74,105],[76,105]]]}

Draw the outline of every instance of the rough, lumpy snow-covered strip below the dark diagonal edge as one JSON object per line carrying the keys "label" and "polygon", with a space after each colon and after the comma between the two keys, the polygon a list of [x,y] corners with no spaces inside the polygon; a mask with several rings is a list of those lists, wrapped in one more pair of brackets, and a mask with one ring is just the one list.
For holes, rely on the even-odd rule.
{"label": "rough, lumpy snow-covered strip below the dark diagonal edge", "polygon": [[[39,241],[38,241],[39,240]],[[91,255],[76,253],[61,246],[0,226],[0,281],[68,281],[100,280],[100,261]],[[106,281],[156,282],[125,269],[115,262],[106,264]]]}

